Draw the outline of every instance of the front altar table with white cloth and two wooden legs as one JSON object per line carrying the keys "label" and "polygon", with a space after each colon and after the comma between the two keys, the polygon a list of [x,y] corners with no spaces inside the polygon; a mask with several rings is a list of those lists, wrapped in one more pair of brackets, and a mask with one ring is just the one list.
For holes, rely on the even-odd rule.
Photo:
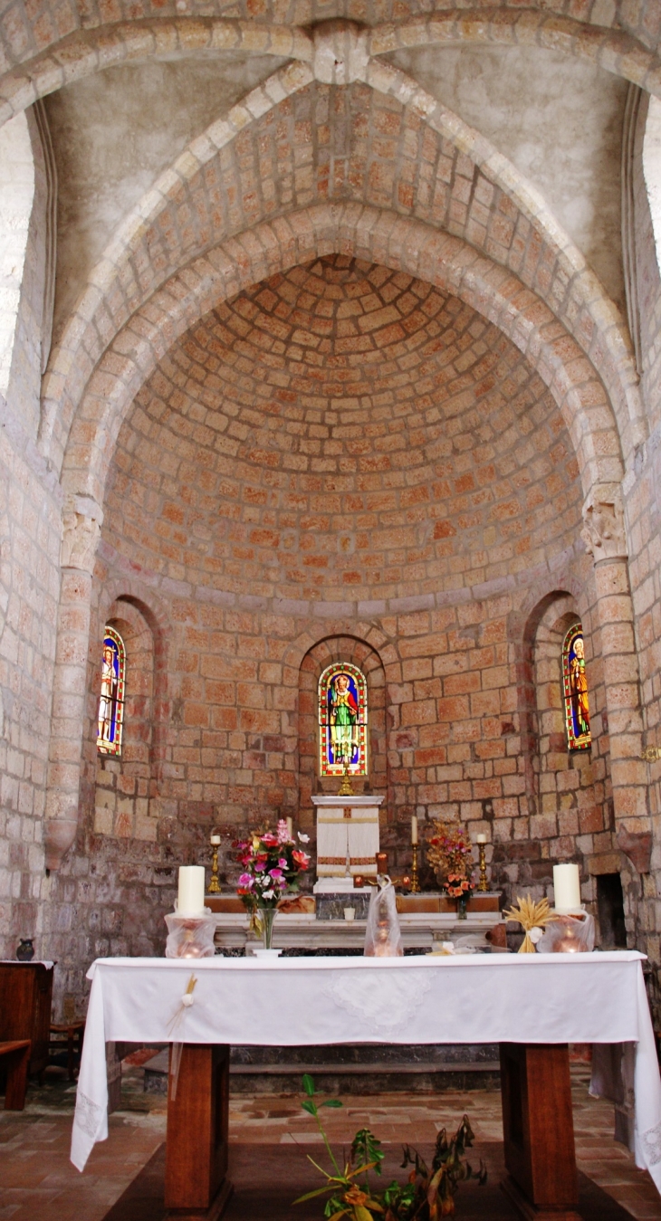
{"label": "front altar table with white cloth and two wooden legs", "polygon": [[498,1042],[503,1186],[522,1216],[580,1221],[568,1042],[635,1044],[635,1160],[661,1189],[661,1081],[643,957],[98,960],[88,972],[73,1165],[82,1171],[108,1137],[106,1042],[181,1049],[181,1063],[180,1053],[171,1060],[166,1206],[172,1219],[200,1221],[217,1217],[231,1192],[231,1044]]}

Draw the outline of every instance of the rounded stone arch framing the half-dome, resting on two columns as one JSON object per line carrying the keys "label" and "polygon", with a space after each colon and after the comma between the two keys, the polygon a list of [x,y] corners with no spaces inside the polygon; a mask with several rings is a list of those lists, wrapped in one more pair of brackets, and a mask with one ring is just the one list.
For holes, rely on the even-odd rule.
{"label": "rounded stone arch framing the half-dome, resting on two columns", "polygon": [[618,482],[622,460],[604,386],[547,306],[466,243],[392,212],[323,205],[257,226],[173,277],[117,336],[71,430],[62,484],[104,502],[115,441],[138,389],[171,344],[219,302],[266,276],[331,253],[354,254],[434,283],[472,305],[527,355],[567,424],[583,488]]}

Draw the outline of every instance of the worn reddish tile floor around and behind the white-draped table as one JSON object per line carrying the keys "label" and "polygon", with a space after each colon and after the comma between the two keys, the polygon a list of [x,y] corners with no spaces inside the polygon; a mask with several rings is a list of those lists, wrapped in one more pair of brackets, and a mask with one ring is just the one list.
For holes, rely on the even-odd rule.
{"label": "worn reddish tile floor around and behind the white-draped table", "polygon": [[[578,1165],[639,1221],[661,1221],[661,1199],[649,1176],[612,1139],[608,1103],[588,1094],[588,1071],[574,1065],[574,1128]],[[84,1175],[68,1161],[76,1087],[49,1071],[31,1087],[26,1110],[0,1111],[0,1221],[101,1221],[165,1138],[165,1098],[142,1089],[139,1066],[126,1066],[122,1109],[110,1117],[109,1139],[95,1147]],[[440,1127],[468,1114],[478,1140],[502,1139],[500,1094],[474,1090],[442,1095],[347,1096],[325,1110],[331,1143],[348,1145],[357,1128],[370,1127],[384,1144],[430,1151]],[[231,1100],[231,1140],[255,1145],[319,1145],[314,1120],[291,1096],[237,1095]]]}

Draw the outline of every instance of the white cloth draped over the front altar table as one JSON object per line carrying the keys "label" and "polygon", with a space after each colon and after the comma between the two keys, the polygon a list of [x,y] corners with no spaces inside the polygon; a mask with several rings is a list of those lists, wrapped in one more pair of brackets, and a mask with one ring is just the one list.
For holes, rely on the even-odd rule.
{"label": "white cloth draped over the front altar table", "polygon": [[98,958],[71,1160],[83,1170],[108,1137],[106,1042],[635,1043],[635,1160],[661,1190],[661,1079],[643,957]]}

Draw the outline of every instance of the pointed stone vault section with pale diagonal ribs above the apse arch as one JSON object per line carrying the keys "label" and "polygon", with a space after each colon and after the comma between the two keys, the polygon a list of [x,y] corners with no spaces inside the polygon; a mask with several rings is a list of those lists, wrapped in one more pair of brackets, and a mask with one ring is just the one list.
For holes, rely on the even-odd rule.
{"label": "pointed stone vault section with pale diagonal ribs above the apse arch", "polygon": [[[55,465],[104,349],[111,344],[117,349],[115,336],[131,315],[149,311],[149,298],[167,276],[178,274],[186,282],[192,260],[211,242],[238,233],[247,242],[248,231],[266,221],[269,212],[288,214],[292,198],[314,206],[330,200],[345,205],[349,197],[362,206],[392,209],[445,228],[488,254],[495,275],[498,270],[513,274],[578,341],[611,397],[622,449],[627,457],[633,452],[644,435],[644,420],[630,341],[616,306],[541,195],[489,140],[415,82],[374,61],[365,71],[367,82],[346,87],[337,99],[347,114],[336,117],[331,87],[313,83],[309,67],[281,70],[213,123],[143,198],[97,266],[44,381],[42,447]],[[391,143],[396,155],[371,173],[369,164],[365,168],[368,150],[352,145],[343,154],[345,170],[352,172],[343,170],[337,181],[340,154],[330,165],[326,145],[320,149],[310,140],[308,160],[297,155],[297,128],[304,116],[312,126],[310,116],[321,104],[329,109],[331,148],[348,120],[362,123],[369,136],[395,115],[398,132]],[[356,115],[348,114],[351,107]],[[360,139],[370,144],[364,136]],[[275,166],[272,192],[260,192],[254,175],[248,182],[243,168],[260,167],[266,173],[264,147],[271,149]],[[406,171],[423,151],[426,179],[420,178],[413,190]],[[172,234],[178,238],[175,243]]]}

